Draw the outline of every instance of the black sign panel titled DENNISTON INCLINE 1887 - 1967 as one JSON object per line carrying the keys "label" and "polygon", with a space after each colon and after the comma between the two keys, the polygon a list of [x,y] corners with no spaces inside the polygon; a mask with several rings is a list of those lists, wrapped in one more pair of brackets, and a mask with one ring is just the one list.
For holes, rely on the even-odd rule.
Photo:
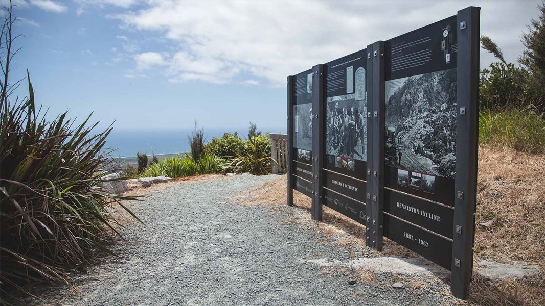
{"label": "black sign panel titled DENNISTON INCLINE 1887 - 1967", "polygon": [[449,270],[456,171],[456,22],[453,16],[384,42],[384,213],[392,216],[385,217],[384,236]]}

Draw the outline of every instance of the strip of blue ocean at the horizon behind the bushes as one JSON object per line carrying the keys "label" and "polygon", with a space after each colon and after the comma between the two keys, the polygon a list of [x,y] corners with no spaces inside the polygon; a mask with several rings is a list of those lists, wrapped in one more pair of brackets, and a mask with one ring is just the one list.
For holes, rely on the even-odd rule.
{"label": "strip of blue ocean at the horizon behind the bushes", "polygon": [[[195,129],[117,129],[108,135],[106,147],[114,148],[116,157],[136,157],[136,153],[152,155],[189,152],[187,135]],[[262,133],[286,133],[286,127],[258,128]],[[212,138],[221,138],[223,133],[238,132],[244,139],[248,128],[204,128],[204,137],[208,142]]]}

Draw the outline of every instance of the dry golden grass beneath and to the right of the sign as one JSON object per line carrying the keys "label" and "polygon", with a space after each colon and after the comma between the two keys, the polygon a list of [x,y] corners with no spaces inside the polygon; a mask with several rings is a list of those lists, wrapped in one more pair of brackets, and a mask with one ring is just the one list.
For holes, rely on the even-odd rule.
{"label": "dry golden grass beneath and to the right of the sign", "polygon": [[[286,205],[286,176],[250,190],[238,200],[243,205]],[[310,211],[310,198],[294,191],[295,206]],[[293,216],[292,216],[293,218]],[[307,220],[310,216],[305,217]],[[492,220],[490,226],[479,223]],[[352,219],[324,207],[323,223],[334,226],[321,233],[348,233],[337,242],[365,246],[365,228]],[[489,259],[500,263],[526,261],[540,268],[537,276],[491,282],[475,273],[469,305],[545,305],[545,155],[530,155],[511,149],[481,147],[477,178],[475,262]],[[366,249],[366,252],[373,252]],[[384,239],[383,255],[417,257],[407,248]],[[424,284],[409,280],[419,291]]]}

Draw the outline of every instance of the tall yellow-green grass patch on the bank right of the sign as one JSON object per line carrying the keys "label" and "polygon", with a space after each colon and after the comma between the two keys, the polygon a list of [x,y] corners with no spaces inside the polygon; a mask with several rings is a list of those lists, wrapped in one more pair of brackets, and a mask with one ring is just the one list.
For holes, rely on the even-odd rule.
{"label": "tall yellow-green grass patch on the bank right of the sign", "polygon": [[532,107],[482,110],[479,142],[521,152],[545,153],[545,119]]}

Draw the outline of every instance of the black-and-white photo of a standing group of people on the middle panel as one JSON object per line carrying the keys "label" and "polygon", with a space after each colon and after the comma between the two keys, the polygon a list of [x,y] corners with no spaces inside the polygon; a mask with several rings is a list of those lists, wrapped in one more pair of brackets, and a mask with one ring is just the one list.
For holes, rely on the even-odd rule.
{"label": "black-and-white photo of a standing group of people on the middle panel", "polygon": [[326,103],[326,153],[367,160],[367,102],[355,94],[330,97]]}

